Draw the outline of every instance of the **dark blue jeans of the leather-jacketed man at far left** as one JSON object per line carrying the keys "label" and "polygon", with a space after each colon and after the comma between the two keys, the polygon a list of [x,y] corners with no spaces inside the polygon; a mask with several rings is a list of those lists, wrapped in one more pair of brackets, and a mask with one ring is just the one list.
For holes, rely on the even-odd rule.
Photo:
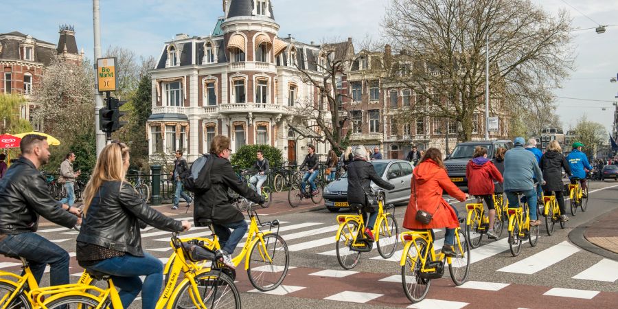
{"label": "dark blue jeans of the leather-jacketed man at far left", "polygon": [[47,264],[50,285],[69,284],[69,253],[36,233],[6,236],[0,242],[0,253],[25,258],[39,284]]}

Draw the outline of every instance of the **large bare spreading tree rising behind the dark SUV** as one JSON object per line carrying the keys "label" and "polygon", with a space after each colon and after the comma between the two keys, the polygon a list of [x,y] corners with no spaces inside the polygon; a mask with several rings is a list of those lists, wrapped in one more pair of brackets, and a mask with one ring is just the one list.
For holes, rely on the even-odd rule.
{"label": "large bare spreading tree rising behind the dark SUV", "polygon": [[551,16],[527,0],[391,0],[387,12],[382,28],[402,51],[392,65],[385,56],[387,82],[417,96],[415,108],[399,117],[459,122],[461,140],[470,140],[475,113],[484,110],[487,37],[494,115],[547,115],[551,90],[573,67],[564,10]]}

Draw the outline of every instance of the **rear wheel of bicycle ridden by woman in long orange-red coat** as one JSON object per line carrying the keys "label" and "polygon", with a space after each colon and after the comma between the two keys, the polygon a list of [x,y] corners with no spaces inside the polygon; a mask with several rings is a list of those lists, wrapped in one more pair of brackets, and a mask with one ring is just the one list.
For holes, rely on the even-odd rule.
{"label": "rear wheel of bicycle ridden by woman in long orange-red coat", "polygon": [[[412,303],[422,301],[429,292],[429,286],[431,286],[431,279],[422,279],[418,276],[423,266],[420,255],[424,255],[425,251],[428,250],[427,242],[420,238],[415,242],[420,253],[416,252],[414,245],[410,246],[408,251],[403,253],[406,257],[406,264],[401,266],[401,283],[406,296]],[[428,262],[431,262],[431,253],[427,254],[425,264]]]}

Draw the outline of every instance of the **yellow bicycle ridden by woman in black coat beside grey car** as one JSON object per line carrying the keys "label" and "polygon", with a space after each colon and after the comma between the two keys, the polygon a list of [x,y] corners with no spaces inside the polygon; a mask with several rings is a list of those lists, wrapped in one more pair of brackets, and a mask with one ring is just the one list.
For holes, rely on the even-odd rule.
{"label": "yellow bicycle ridden by woman in black coat beside grey car", "polygon": [[[378,218],[371,233],[374,234],[378,253],[382,258],[390,258],[397,249],[397,236],[399,226],[394,214],[395,206],[387,206],[384,209],[384,197],[378,190]],[[363,219],[363,209],[358,209],[358,215],[339,215],[339,229],[335,236],[336,254],[339,265],[345,269],[352,269],[361,258],[361,253],[371,251],[373,244],[365,238],[365,220]]]}

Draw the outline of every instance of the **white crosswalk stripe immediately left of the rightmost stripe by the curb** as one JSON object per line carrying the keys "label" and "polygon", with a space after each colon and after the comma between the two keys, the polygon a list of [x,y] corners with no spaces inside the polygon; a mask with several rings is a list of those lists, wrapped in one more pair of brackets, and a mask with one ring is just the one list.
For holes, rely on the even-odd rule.
{"label": "white crosswalk stripe immediately left of the rightmost stripe by the curb", "polygon": [[577,251],[580,251],[580,249],[565,240],[519,262],[500,268],[498,271],[531,275],[568,258],[573,253],[577,253]]}

